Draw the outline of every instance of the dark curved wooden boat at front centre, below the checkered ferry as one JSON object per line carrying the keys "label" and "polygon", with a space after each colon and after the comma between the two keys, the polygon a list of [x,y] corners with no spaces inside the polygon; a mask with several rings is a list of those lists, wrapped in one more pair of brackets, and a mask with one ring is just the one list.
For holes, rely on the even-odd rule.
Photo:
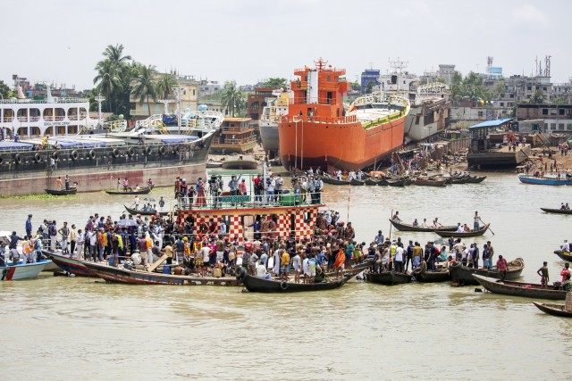
{"label": "dark curved wooden boat at front centre, below the checkered ferry", "polygon": [[248,275],[246,269],[237,269],[236,278],[251,293],[299,293],[304,291],[326,291],[343,286],[350,277],[330,280],[322,283],[290,283],[279,280],[263,279]]}

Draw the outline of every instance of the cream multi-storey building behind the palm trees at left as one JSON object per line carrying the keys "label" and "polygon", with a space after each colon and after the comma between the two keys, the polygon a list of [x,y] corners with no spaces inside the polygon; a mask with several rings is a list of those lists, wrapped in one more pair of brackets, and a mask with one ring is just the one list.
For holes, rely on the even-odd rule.
{"label": "cream multi-storey building behind the palm trees at left", "polygon": [[[173,78],[177,81],[176,87],[181,87],[181,112],[189,109],[190,111],[197,111],[198,109],[198,81],[192,76],[184,76],[173,74]],[[177,99],[177,92],[173,91],[170,99],[156,99],[149,98],[149,107],[147,108],[147,101],[143,103],[139,102],[139,98],[134,95],[130,95],[130,116],[133,120],[143,120],[147,119],[149,115],[176,112],[179,107],[179,101]],[[165,103],[160,101],[168,101]],[[149,110],[150,109],[150,110]]]}

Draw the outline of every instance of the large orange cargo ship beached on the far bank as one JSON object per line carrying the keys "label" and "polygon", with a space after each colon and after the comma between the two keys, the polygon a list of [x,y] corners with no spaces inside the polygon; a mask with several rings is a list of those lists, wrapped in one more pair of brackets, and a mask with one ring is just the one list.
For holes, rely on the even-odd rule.
{"label": "large orange cargo ship beached on the far bank", "polygon": [[282,165],[322,170],[358,170],[380,162],[403,144],[407,99],[364,95],[344,111],[349,84],[345,69],[324,60],[295,70],[288,115],[278,124]]}

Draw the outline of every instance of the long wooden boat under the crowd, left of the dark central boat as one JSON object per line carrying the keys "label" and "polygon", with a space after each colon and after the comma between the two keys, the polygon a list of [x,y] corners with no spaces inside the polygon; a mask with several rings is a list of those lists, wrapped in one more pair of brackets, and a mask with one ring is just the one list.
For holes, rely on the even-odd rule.
{"label": "long wooden boat under the crowd, left of the dark central boat", "polygon": [[172,286],[238,286],[235,277],[192,277],[187,275],[161,274],[149,271],[133,271],[130,269],[114,268],[101,263],[85,261],[83,264],[92,270],[97,277],[107,282],[130,285],[172,285]]}

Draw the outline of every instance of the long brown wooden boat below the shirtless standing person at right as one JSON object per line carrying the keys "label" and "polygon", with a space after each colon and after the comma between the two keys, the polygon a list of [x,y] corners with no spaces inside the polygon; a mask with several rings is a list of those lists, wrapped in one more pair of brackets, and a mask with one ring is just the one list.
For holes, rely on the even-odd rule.
{"label": "long brown wooden boat below the shirtless standing person at right", "polygon": [[534,283],[512,282],[494,277],[484,277],[473,274],[475,280],[484,288],[494,294],[511,296],[523,296],[534,299],[551,299],[563,301],[566,299],[566,291],[555,290],[552,286],[543,287]]}

